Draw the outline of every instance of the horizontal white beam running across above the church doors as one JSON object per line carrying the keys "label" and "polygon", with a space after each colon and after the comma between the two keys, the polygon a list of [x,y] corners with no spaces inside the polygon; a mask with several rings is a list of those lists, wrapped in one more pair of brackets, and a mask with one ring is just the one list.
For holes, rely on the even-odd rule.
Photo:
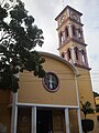
{"label": "horizontal white beam running across above the church doors", "polygon": [[79,106],[76,105],[56,105],[56,104],[35,104],[35,103],[16,103],[16,105],[23,105],[23,106],[43,106],[43,108],[67,108],[67,109],[79,109]]}

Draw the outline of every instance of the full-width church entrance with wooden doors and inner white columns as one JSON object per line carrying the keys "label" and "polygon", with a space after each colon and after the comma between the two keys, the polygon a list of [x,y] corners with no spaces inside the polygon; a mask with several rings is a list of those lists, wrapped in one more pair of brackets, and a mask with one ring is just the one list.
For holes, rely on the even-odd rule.
{"label": "full-width church entrance with wooden doors and inner white columns", "polygon": [[78,133],[79,124],[77,109],[19,106],[15,133]]}

